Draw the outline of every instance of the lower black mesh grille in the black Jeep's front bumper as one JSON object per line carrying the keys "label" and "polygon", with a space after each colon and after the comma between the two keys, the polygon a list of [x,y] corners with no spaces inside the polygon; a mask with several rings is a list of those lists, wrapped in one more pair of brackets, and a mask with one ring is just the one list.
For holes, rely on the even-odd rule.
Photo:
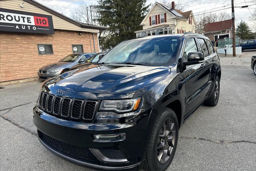
{"label": "lower black mesh grille in the black Jeep's front bumper", "polygon": [[78,157],[83,160],[93,161],[92,157],[89,154],[90,152],[88,148],[81,148],[75,145],[64,143],[62,141],[58,141],[57,139],[54,139],[42,133],[41,131],[38,131],[38,136],[40,137],[40,139],[44,140],[48,145],[58,149],[62,153],[66,153],[68,155]]}

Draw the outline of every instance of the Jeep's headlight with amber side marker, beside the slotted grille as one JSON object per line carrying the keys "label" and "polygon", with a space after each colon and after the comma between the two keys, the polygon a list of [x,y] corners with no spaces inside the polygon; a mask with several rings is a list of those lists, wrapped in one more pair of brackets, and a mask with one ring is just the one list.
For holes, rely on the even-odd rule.
{"label": "Jeep's headlight with amber side marker, beside the slotted grille", "polygon": [[99,111],[116,111],[118,113],[135,111],[140,106],[141,98],[122,100],[102,100]]}

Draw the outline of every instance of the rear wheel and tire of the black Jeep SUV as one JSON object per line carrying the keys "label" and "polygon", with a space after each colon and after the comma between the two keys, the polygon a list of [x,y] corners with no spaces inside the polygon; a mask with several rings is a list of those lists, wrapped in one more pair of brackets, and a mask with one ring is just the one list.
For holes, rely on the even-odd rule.
{"label": "rear wheel and tire of the black Jeep SUV", "polygon": [[204,101],[204,105],[206,106],[216,106],[219,101],[220,96],[220,79],[219,77],[216,78],[214,82],[214,89],[209,99]]}

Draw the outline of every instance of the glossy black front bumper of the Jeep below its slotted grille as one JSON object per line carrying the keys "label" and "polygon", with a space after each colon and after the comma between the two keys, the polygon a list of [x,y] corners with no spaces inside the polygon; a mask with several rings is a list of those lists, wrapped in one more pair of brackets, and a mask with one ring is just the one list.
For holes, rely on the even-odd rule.
{"label": "glossy black front bumper of the Jeep below its slotted grille", "polygon": [[[144,159],[146,151],[146,129],[152,108],[141,109],[132,123],[82,123],[64,120],[34,107],[34,124],[40,142],[52,153],[69,161],[99,169],[128,169]],[[117,142],[95,142],[96,134],[126,133],[126,139]],[[63,149],[66,148],[66,149]],[[102,161],[98,151],[119,151],[126,161]],[[79,151],[79,152],[78,152]],[[82,151],[82,152],[81,152]],[[105,153],[104,153],[105,154]],[[115,156],[116,157],[116,156]]]}

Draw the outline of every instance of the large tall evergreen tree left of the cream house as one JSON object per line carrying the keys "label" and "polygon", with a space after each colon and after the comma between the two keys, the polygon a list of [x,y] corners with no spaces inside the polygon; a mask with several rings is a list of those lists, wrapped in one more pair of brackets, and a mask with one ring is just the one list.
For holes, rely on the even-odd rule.
{"label": "large tall evergreen tree left of the cream house", "polygon": [[98,22],[107,28],[99,38],[102,49],[110,49],[126,39],[135,38],[141,30],[149,5],[146,0],[99,0]]}

